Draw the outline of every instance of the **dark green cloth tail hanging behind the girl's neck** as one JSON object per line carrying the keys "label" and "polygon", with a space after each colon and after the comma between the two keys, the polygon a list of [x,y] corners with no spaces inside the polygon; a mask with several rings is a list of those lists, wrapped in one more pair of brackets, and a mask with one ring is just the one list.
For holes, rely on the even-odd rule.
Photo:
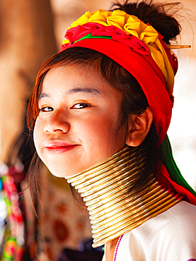
{"label": "dark green cloth tail hanging behind the girl's neck", "polygon": [[171,144],[168,139],[168,135],[166,135],[166,138],[163,140],[163,143],[161,145],[161,149],[163,152],[163,164],[166,167],[168,173],[171,176],[171,180],[175,181],[178,185],[182,186],[183,188],[186,188],[189,190],[193,195],[196,197],[196,192],[193,190],[187,181],[185,181],[185,178],[183,178],[182,174],[180,173],[180,170],[178,169],[178,166],[176,165],[173,154],[171,150]]}

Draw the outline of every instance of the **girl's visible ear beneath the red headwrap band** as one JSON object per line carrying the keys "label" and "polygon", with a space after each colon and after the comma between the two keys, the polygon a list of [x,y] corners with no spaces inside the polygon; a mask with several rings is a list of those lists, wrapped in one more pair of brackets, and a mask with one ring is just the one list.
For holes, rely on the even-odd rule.
{"label": "girl's visible ear beneath the red headwrap band", "polygon": [[128,136],[126,144],[131,147],[139,146],[149,133],[153,114],[147,107],[143,114],[130,115],[128,119]]}

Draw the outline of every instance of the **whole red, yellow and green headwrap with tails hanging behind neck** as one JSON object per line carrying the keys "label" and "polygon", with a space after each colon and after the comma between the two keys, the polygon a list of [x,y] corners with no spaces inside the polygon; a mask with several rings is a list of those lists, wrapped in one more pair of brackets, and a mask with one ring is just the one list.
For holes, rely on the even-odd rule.
{"label": "whole red, yellow and green headwrap with tails hanging behind neck", "polygon": [[[124,11],[86,12],[71,24],[61,51],[85,47],[105,54],[131,73],[142,87],[163,141],[164,162],[159,181],[196,205],[196,193],[181,176],[166,136],[173,107],[174,64],[163,37]],[[169,173],[169,174],[168,174]]]}

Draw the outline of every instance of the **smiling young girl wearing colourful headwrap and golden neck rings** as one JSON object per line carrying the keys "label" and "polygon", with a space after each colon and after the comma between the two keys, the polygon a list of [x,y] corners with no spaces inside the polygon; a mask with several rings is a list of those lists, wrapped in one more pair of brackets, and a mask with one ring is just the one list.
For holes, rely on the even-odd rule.
{"label": "smiling young girl wearing colourful headwrap and golden neck rings", "polygon": [[196,198],[166,136],[180,25],[163,5],[118,4],[71,24],[28,108],[38,156],[81,193],[103,260],[196,260]]}

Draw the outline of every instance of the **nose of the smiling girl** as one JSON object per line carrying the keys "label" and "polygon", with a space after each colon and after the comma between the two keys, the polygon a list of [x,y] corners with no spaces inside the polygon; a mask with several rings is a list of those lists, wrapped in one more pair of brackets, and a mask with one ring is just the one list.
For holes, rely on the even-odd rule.
{"label": "nose of the smiling girl", "polygon": [[52,115],[45,121],[45,133],[68,133],[70,124],[67,117],[60,111],[52,113]]}

